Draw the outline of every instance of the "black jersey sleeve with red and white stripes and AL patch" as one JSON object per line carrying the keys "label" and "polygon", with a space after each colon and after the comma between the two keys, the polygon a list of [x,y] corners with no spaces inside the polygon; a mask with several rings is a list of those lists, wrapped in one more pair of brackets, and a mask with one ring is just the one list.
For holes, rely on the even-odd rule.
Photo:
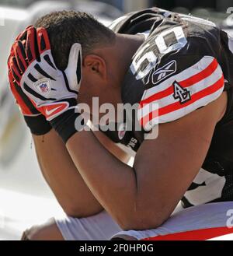
{"label": "black jersey sleeve with red and white stripes and AL patch", "polygon": [[145,89],[137,110],[145,131],[176,121],[221,95],[224,75],[217,61],[219,48],[214,38],[189,37],[176,51],[157,52],[158,65],[142,79]]}

